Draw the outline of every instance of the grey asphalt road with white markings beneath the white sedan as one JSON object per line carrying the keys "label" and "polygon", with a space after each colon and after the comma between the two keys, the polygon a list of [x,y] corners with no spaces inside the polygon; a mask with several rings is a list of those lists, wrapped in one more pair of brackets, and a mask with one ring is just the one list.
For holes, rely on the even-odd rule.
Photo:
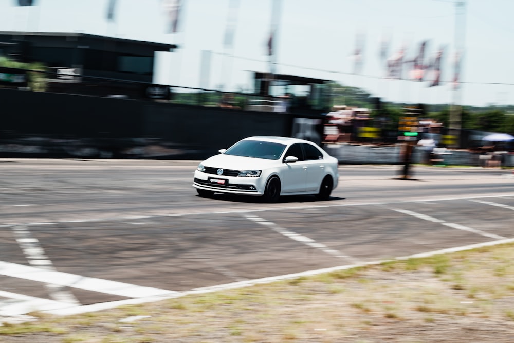
{"label": "grey asphalt road with white markings beneath the white sedan", "polygon": [[0,160],[0,319],[514,238],[511,170],[340,166],[330,200],[264,204],[198,197],[196,165]]}

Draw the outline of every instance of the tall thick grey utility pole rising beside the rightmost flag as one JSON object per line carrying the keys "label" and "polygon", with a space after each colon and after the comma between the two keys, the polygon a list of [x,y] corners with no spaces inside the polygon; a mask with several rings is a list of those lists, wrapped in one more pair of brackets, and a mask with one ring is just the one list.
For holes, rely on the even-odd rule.
{"label": "tall thick grey utility pole rising beside the rightmost flag", "polygon": [[[464,33],[465,33],[465,2],[464,0],[455,2],[455,57],[461,59],[456,63],[462,62],[464,55]],[[462,106],[461,103],[461,85],[455,84],[453,88],[453,101],[450,106],[450,132],[453,140],[450,146],[459,147],[461,141],[462,129]]]}

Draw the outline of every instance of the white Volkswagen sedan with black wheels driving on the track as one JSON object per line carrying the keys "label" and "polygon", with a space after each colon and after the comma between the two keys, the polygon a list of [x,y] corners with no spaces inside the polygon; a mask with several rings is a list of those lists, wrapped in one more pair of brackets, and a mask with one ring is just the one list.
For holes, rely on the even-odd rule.
{"label": "white Volkswagen sedan with black wheels driving on the track", "polygon": [[339,165],[315,143],[287,137],[248,137],[198,165],[193,187],[200,196],[218,193],[262,196],[315,194],[327,200],[337,187]]}

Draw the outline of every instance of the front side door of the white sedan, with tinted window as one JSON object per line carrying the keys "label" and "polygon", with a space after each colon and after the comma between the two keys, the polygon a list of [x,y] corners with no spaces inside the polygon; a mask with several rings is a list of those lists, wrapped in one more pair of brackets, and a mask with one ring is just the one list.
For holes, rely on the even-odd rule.
{"label": "front side door of the white sedan, with tinted window", "polygon": [[304,165],[304,156],[301,143],[291,145],[285,155],[298,157],[296,162],[285,162],[284,171],[281,175],[282,192],[298,193],[305,191],[307,180],[307,167]]}

